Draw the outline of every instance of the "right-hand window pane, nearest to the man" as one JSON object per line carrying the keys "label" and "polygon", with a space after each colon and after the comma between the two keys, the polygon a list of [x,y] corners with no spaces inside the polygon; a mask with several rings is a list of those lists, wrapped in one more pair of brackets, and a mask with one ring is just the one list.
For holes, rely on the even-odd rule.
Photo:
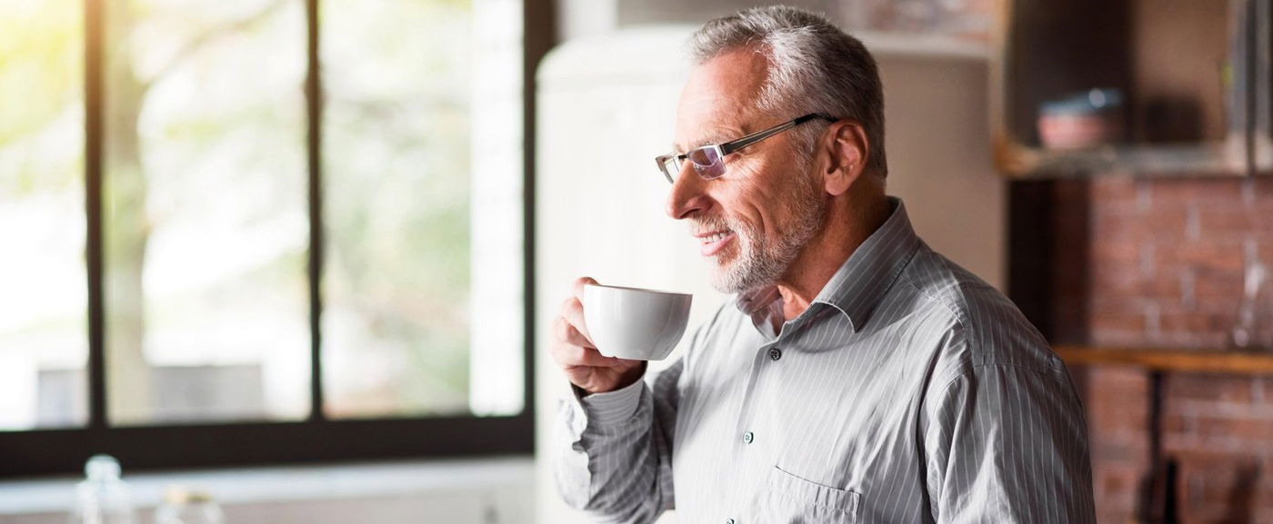
{"label": "right-hand window pane, nearest to the man", "polygon": [[323,408],[518,413],[521,3],[321,5]]}

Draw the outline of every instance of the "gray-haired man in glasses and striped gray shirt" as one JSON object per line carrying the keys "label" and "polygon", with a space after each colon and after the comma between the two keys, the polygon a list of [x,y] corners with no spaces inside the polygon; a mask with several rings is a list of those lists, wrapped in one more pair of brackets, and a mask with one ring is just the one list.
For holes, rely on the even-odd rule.
{"label": "gray-haired man in glasses and striped gray shirt", "polygon": [[737,299],[647,385],[644,362],[593,348],[577,282],[551,346],[574,390],[555,443],[566,502],[621,523],[1094,521],[1066,366],[885,195],[862,43],[761,8],[691,47],[658,165],[667,214]]}

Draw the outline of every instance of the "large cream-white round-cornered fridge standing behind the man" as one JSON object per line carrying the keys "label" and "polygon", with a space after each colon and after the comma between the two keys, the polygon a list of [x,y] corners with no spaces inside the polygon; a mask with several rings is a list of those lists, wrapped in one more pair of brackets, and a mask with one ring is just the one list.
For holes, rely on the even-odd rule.
{"label": "large cream-white round-cornered fridge standing behind the man", "polygon": [[[540,523],[587,521],[558,497],[547,454],[558,399],[568,394],[547,356],[549,326],[570,282],[589,275],[694,293],[690,329],[726,299],[709,287],[686,226],[663,214],[668,184],[653,160],[671,149],[687,72],[682,43],[693,29],[630,28],[569,41],[538,71]],[[984,52],[915,38],[863,39],[885,83],[890,193],[906,201],[931,245],[1002,289],[1004,183],[990,164]]]}

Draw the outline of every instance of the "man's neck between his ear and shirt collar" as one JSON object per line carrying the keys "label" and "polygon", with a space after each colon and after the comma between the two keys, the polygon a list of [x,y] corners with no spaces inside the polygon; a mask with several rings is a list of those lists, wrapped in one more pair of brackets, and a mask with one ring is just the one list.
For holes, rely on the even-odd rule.
{"label": "man's neck between his ear and shirt collar", "polygon": [[889,198],[883,195],[854,198],[844,193],[835,197],[822,230],[810,239],[778,281],[784,321],[805,313],[840,266],[885,220],[889,220]]}

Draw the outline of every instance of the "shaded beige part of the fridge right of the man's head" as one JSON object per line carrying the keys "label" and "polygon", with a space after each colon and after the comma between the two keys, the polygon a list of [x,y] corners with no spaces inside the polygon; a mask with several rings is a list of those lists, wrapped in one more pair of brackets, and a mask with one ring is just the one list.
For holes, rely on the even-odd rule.
{"label": "shaded beige part of the fridge right of the man's head", "polygon": [[919,235],[990,285],[1007,284],[1007,181],[990,156],[989,65],[975,46],[863,36],[885,90],[889,195]]}

